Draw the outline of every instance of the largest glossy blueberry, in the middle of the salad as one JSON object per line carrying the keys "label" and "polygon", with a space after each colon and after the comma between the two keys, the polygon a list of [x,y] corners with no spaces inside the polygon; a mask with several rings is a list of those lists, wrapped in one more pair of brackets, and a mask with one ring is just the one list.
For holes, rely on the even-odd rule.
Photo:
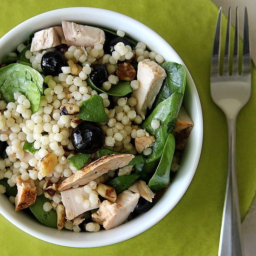
{"label": "largest glossy blueberry, in the middle of the salad", "polygon": [[94,153],[104,144],[104,133],[94,122],[82,121],[73,129],[71,141],[74,149],[81,153]]}

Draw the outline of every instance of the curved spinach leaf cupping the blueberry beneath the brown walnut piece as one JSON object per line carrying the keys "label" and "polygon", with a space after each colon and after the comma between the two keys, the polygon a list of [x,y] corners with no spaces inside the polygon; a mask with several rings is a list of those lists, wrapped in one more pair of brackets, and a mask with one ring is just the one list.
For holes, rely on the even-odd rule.
{"label": "curved spinach leaf cupping the blueberry beneath the brown walnut piece", "polygon": [[95,86],[89,76],[86,79],[86,81],[87,81],[88,85],[91,88],[93,88],[94,90],[104,93],[104,94],[112,95],[112,96],[121,97],[121,96],[125,96],[133,91],[133,89],[130,86],[129,81],[119,81],[116,85],[112,85],[112,87],[108,91],[103,91],[100,88],[98,88],[97,86]]}

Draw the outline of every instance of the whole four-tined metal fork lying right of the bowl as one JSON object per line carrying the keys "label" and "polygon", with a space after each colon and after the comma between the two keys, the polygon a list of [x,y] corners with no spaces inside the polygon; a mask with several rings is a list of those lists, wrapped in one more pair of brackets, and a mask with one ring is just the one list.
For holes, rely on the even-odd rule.
{"label": "whole four-tined metal fork lying right of the bowl", "polygon": [[236,116],[238,115],[241,108],[243,108],[243,106],[248,102],[251,93],[251,59],[249,47],[248,14],[245,7],[242,74],[239,74],[238,68],[238,7],[236,7],[232,74],[229,74],[229,63],[231,63],[230,58],[232,58],[230,56],[230,7],[228,13],[225,51],[223,57],[223,74],[220,70],[221,16],[222,8],[220,8],[217,20],[210,75],[211,96],[216,105],[220,107],[225,113],[229,132],[228,177],[222,215],[218,256],[242,256],[243,245],[241,237],[241,217],[236,180]]}

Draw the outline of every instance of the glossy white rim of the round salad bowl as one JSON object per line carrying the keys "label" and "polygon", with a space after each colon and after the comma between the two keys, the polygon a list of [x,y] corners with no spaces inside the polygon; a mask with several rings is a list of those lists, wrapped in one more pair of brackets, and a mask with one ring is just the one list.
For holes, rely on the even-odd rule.
{"label": "glossy white rim of the round salad bowl", "polygon": [[[169,204],[168,207],[165,206],[165,208],[163,208],[164,210],[162,210],[160,212],[157,212],[156,209],[154,210],[154,207],[155,207],[154,206],[147,213],[145,213],[141,216],[138,216],[135,219],[133,219],[127,223],[124,223],[115,229],[102,230],[100,232],[97,232],[98,234],[101,233],[103,236],[105,236],[106,240],[103,239],[103,241],[97,241],[97,243],[95,243],[95,241],[93,239],[94,239],[94,237],[97,237],[97,233],[90,233],[89,234],[90,236],[83,235],[83,237],[89,238],[89,241],[86,241],[86,240],[84,241],[84,239],[79,240],[78,234],[81,234],[81,233],[77,233],[77,234],[74,234],[74,238],[77,238],[78,241],[74,241],[72,239],[71,243],[70,243],[70,242],[68,242],[67,239],[61,239],[61,238],[52,236],[52,232],[48,232],[49,228],[46,226],[42,227],[42,224],[40,224],[40,223],[34,223],[34,225],[32,225],[30,227],[30,226],[26,225],[26,223],[24,223],[24,221],[22,222],[21,218],[17,219],[14,211],[13,211],[13,213],[11,213],[10,211],[8,212],[8,210],[5,208],[5,206],[7,206],[7,203],[9,203],[7,198],[6,198],[6,200],[5,199],[3,200],[3,204],[0,204],[0,214],[2,214],[9,222],[13,223],[13,225],[15,225],[19,229],[23,230],[27,234],[35,236],[35,237],[37,237],[43,241],[49,242],[49,243],[54,243],[54,244],[58,244],[58,245],[68,246],[68,247],[86,248],[86,247],[99,247],[99,246],[105,246],[105,245],[110,245],[110,244],[114,244],[114,243],[119,243],[121,241],[125,241],[125,240],[128,240],[129,238],[137,236],[137,235],[141,234],[142,232],[144,232],[145,230],[151,228],[153,225],[155,225],[160,220],[162,220],[162,218],[165,217],[175,207],[175,205],[180,201],[180,199],[182,198],[182,196],[185,194],[186,190],[188,189],[188,187],[193,179],[193,176],[195,174],[195,171],[196,171],[199,159],[200,159],[201,150],[202,150],[202,138],[203,138],[203,121],[202,121],[201,103],[200,103],[198,92],[195,87],[195,83],[191,77],[191,74],[189,73],[188,68],[186,67],[186,65],[184,64],[182,59],[174,51],[174,49],[168,44],[168,42],[166,40],[164,40],[159,34],[157,34],[155,31],[153,31],[151,28],[147,27],[143,23],[139,22],[138,20],[135,20],[127,15],[117,13],[114,11],[110,11],[107,9],[94,8],[94,7],[67,7],[67,8],[61,8],[61,9],[55,9],[55,10],[48,11],[45,13],[40,13],[28,20],[23,21],[16,27],[13,27],[9,32],[7,32],[7,34],[3,35],[2,38],[0,38],[0,45],[4,45],[8,40],[10,40],[10,38],[13,37],[13,34],[15,34],[16,32],[18,32],[20,30],[23,30],[24,28],[29,27],[30,24],[33,24],[33,22],[35,22],[38,19],[41,19],[41,18],[46,19],[47,16],[51,16],[56,13],[58,13],[58,15],[61,15],[61,14],[65,15],[67,12],[76,13],[76,12],[81,12],[81,11],[93,12],[93,13],[98,13],[98,14],[100,13],[101,15],[104,15],[104,16],[115,15],[117,19],[127,20],[126,22],[129,22],[132,26],[134,26],[134,27],[139,26],[145,32],[150,33],[151,35],[154,35],[155,38],[160,40],[162,42],[162,45],[164,47],[167,47],[168,50],[175,55],[175,57],[176,57],[175,61],[181,63],[186,69],[187,81],[189,81],[189,89],[192,91],[191,94],[193,96],[193,101],[194,101],[195,109],[196,109],[195,114],[197,116],[197,119],[196,119],[197,129],[195,131],[197,140],[196,140],[196,147],[193,148],[193,150],[195,150],[195,159],[190,168],[190,171],[189,171],[189,174],[187,177],[187,181],[186,181],[186,186],[184,186],[182,188],[181,192],[176,197],[175,202],[172,202],[171,204]],[[133,38],[135,38],[135,37],[133,36]],[[192,130],[192,132],[194,132],[194,131]],[[157,202],[156,204],[159,203],[159,207],[164,206],[164,199],[166,199],[166,198],[168,198],[168,190],[167,190],[167,192],[165,192],[163,198],[161,198],[160,201]],[[2,200],[2,198],[0,198],[0,200]],[[156,213],[157,213],[157,215],[156,215]],[[147,222],[145,222],[145,220],[144,220],[146,217],[148,217]],[[141,219],[144,220],[144,222],[143,222],[143,225],[140,228],[138,228],[137,224],[136,224],[136,222],[134,222],[134,220],[140,221]],[[33,220],[33,222],[34,222],[34,220]],[[127,226],[130,230],[127,230],[127,228],[126,228]],[[43,230],[44,233],[42,234],[42,231],[37,231],[35,229],[36,227],[37,228],[40,227],[40,230]],[[120,234],[120,231],[121,231],[121,234]],[[126,231],[126,232],[123,232],[123,231]],[[57,232],[59,232],[59,231],[57,231]],[[63,232],[63,234],[64,234],[64,233],[70,232],[70,231],[62,230],[61,232]],[[107,234],[110,234],[110,232],[111,232],[113,235],[116,235],[116,236],[114,237],[114,239],[113,238],[107,239],[108,236],[106,236],[106,234],[105,234],[106,232],[108,232]],[[54,232],[54,234],[55,234],[55,232]],[[84,232],[83,234],[87,234],[87,232]],[[90,238],[92,238],[92,240],[90,240]]]}

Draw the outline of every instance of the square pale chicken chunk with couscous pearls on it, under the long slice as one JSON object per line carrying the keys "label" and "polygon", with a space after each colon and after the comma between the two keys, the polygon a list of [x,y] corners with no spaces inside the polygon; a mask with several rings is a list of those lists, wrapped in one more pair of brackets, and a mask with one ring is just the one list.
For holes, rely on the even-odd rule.
{"label": "square pale chicken chunk with couscous pearls on it, under the long slice", "polygon": [[81,215],[82,213],[99,208],[100,206],[101,202],[99,201],[94,206],[90,205],[88,208],[84,208],[82,203],[78,203],[75,201],[74,197],[76,195],[81,195],[84,200],[89,199],[89,194],[84,191],[83,187],[61,191],[61,200],[66,210],[67,220],[73,220],[75,217]]}

